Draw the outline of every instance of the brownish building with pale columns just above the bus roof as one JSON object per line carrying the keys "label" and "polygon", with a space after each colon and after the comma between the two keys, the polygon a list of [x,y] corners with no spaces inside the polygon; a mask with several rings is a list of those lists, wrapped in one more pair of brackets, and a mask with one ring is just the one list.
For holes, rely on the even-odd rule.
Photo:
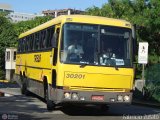
{"label": "brownish building with pale columns just above the bus roof", "polygon": [[71,14],[83,14],[84,11],[76,10],[76,9],[60,9],[60,10],[45,10],[42,13],[47,16],[57,17],[60,15],[71,15]]}

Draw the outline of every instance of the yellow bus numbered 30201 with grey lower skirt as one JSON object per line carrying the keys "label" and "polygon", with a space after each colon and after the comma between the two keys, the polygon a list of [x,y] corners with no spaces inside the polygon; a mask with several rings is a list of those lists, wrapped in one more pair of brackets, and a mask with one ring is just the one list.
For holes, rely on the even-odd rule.
{"label": "yellow bus numbered 30201 with grey lower skirt", "polygon": [[134,27],[125,20],[63,15],[19,36],[15,75],[23,94],[59,103],[130,104]]}

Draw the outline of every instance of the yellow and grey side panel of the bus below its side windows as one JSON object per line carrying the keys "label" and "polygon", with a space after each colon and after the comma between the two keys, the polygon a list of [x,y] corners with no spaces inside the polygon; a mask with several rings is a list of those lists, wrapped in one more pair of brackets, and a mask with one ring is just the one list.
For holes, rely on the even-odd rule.
{"label": "yellow and grey side panel of the bus below its side windows", "polygon": [[28,90],[44,97],[43,77],[46,76],[48,83],[52,83],[52,52],[37,52],[17,54],[16,74],[27,77]]}

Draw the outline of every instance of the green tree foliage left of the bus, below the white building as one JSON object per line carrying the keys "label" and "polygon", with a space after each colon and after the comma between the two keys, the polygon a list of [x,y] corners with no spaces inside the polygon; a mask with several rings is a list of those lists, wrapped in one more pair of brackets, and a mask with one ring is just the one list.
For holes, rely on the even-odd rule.
{"label": "green tree foliage left of the bus, below the white building", "polygon": [[5,16],[6,13],[0,13],[0,79],[5,77],[5,49],[7,47],[16,47],[18,36],[36,27],[51,17],[36,17],[34,20],[11,23]]}

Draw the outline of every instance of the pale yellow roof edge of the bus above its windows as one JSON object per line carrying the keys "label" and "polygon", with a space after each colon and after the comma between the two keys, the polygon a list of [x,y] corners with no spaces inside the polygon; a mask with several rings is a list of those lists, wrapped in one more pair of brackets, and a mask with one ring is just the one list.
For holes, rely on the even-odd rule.
{"label": "pale yellow roof edge of the bus above its windows", "polygon": [[113,19],[113,18],[100,17],[100,16],[89,16],[89,15],[61,15],[31,30],[28,30],[27,32],[20,34],[19,38],[23,38],[27,35],[38,32],[52,25],[65,23],[65,22],[100,24],[100,25],[131,28],[131,24],[129,22],[125,20],[120,20],[120,19]]}

